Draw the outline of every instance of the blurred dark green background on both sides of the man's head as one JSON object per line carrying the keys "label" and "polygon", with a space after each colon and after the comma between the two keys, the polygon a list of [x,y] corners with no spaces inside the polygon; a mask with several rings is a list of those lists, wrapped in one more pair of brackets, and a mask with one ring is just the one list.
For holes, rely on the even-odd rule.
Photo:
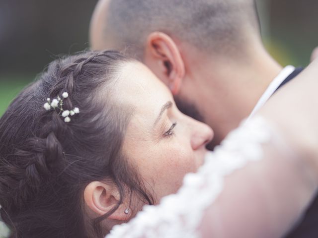
{"label": "blurred dark green background on both sides of the man's head", "polygon": [[[0,0],[0,115],[60,54],[88,48],[97,0]],[[257,0],[265,46],[282,65],[306,66],[318,46],[317,0]]]}

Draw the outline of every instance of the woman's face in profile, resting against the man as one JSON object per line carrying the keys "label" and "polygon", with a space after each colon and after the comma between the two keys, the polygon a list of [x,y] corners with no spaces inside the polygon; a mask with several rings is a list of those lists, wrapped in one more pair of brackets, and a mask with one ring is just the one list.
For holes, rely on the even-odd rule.
{"label": "woman's face in profile, resting against the man", "polygon": [[117,87],[119,102],[133,109],[123,152],[158,203],[202,165],[213,131],[180,113],[168,88],[142,63],[127,63]]}

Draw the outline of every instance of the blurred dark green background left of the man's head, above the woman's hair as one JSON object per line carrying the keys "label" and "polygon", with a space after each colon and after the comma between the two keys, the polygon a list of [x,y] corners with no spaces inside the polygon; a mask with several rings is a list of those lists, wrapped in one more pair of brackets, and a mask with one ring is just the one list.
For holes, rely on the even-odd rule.
{"label": "blurred dark green background left of the man's head, above the woman's hair", "polygon": [[59,55],[88,48],[97,0],[0,0],[0,116]]}

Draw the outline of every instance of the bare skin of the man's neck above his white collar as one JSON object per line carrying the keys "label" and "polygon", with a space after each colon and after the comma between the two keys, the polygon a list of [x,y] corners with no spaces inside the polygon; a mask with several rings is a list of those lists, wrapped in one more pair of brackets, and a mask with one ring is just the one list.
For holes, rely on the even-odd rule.
{"label": "bare skin of the man's neck above his white collar", "polygon": [[207,77],[202,75],[207,80],[201,80],[198,97],[206,102],[201,104],[201,110],[206,122],[216,130],[215,142],[219,143],[249,116],[282,66],[260,50],[246,62],[218,60],[205,69],[211,70],[205,71]]}

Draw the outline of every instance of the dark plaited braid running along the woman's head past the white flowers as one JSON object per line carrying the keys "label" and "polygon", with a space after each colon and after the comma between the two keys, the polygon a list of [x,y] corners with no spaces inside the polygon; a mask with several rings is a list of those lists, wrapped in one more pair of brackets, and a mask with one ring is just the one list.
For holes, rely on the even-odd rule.
{"label": "dark plaited braid running along the woman's head past the white flowers", "polygon": [[[58,80],[54,87],[51,88],[49,97],[62,96],[63,92],[68,92],[70,96],[64,99],[63,107],[71,110],[73,108],[71,99],[76,88],[75,78],[79,76],[86,63],[102,55],[104,54],[96,53],[88,58],[83,57],[66,65],[60,65],[64,63],[63,60],[60,60],[59,63],[54,65],[55,75]],[[43,119],[46,120],[42,133],[39,136],[30,138],[23,149],[15,151],[16,155],[21,156],[25,160],[32,158],[25,167],[24,176],[20,176],[18,186],[20,196],[17,200],[20,202],[28,200],[28,191],[37,192],[37,189],[40,188],[38,185],[41,184],[43,179],[49,179],[55,169],[64,166],[64,152],[60,140],[63,140],[64,135],[71,131],[55,110],[50,112],[42,111],[45,114]],[[20,200],[20,198],[24,199]]]}

